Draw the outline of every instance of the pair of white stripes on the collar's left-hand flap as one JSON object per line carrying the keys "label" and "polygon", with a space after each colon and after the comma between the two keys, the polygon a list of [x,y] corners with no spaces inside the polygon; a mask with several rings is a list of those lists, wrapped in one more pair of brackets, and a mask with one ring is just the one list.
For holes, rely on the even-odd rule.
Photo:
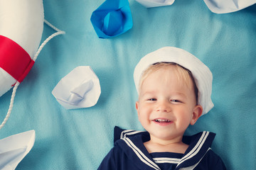
{"label": "pair of white stripes on the collar's left-hand flap", "polygon": [[127,137],[123,138],[122,140],[124,140],[124,142],[126,142],[127,145],[132,148],[132,150],[134,151],[134,153],[137,154],[137,157],[139,157],[139,159],[140,159],[142,162],[144,162],[146,165],[150,166],[150,167],[153,168],[153,169],[161,170],[161,169],[159,168],[159,166],[157,166],[157,165],[156,165],[154,162],[152,162],[148,157],[146,157],[146,155],[143,154],[142,151],[141,151],[138,147],[136,147],[136,146],[134,145],[134,143],[132,142],[132,140],[129,140],[129,138],[127,138]]}

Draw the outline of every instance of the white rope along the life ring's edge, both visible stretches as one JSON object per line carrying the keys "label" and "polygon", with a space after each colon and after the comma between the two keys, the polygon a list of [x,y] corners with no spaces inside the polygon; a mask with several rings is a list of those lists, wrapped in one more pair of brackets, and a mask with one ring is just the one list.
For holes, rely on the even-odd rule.
{"label": "white rope along the life ring's edge, both visible stretches", "polygon": [[[44,20],[44,22],[45,22],[48,26],[50,26],[50,28],[53,28],[53,30],[56,30],[57,33],[53,33],[53,34],[50,35],[48,38],[46,38],[46,40],[43,41],[43,43],[42,43],[42,44],[40,45],[40,47],[38,48],[36,54],[35,54],[34,57],[32,58],[32,60],[35,61],[35,62],[36,62],[36,59],[37,59],[39,53],[41,52],[41,50],[43,49],[43,47],[47,44],[47,42],[48,42],[49,40],[51,40],[52,38],[54,38],[54,37],[57,36],[57,35],[65,34],[65,31],[59,30],[58,28],[56,28],[55,26],[53,26],[52,24],[50,24],[48,21]],[[9,119],[9,117],[10,117],[10,115],[11,115],[12,108],[14,107],[14,98],[15,98],[15,96],[16,96],[16,90],[17,90],[19,84],[20,84],[20,83],[19,83],[18,81],[16,81],[16,84],[15,84],[15,86],[14,86],[13,92],[12,92],[12,94],[11,94],[11,102],[10,102],[9,110],[8,110],[8,112],[7,112],[7,114],[6,114],[6,117],[4,118],[4,121],[3,121],[3,122],[1,123],[1,125],[0,125],[0,130],[1,130],[1,128],[4,127],[4,125],[6,124],[6,121]]]}

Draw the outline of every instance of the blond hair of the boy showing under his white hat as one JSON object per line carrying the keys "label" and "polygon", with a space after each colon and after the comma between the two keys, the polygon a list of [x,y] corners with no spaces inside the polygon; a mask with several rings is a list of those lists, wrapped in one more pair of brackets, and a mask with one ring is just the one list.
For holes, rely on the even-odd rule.
{"label": "blond hair of the boy showing under his white hat", "polygon": [[191,86],[190,80],[192,80],[192,86],[196,95],[196,101],[198,101],[198,89],[195,80],[193,79],[191,71],[174,62],[157,62],[155,64],[150,65],[147,69],[145,69],[144,72],[142,72],[141,78],[139,79],[139,91],[142,88],[143,81],[146,79],[146,77],[149,77],[149,74],[151,74],[152,72],[156,72],[161,68],[166,68],[170,66],[173,66],[174,69],[176,70],[178,80],[181,81],[181,83],[184,83],[186,84],[186,86],[189,87]]}

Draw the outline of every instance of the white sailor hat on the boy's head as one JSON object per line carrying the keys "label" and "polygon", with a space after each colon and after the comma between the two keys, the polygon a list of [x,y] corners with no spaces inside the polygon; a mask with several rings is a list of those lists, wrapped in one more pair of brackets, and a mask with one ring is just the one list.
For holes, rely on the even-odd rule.
{"label": "white sailor hat on the boy's head", "polygon": [[201,60],[178,47],[162,47],[142,57],[134,69],[134,83],[138,93],[139,80],[142,77],[142,73],[151,64],[157,62],[174,62],[190,70],[198,89],[197,103],[203,107],[202,115],[208,113],[213,108],[214,105],[210,98],[213,74]]}

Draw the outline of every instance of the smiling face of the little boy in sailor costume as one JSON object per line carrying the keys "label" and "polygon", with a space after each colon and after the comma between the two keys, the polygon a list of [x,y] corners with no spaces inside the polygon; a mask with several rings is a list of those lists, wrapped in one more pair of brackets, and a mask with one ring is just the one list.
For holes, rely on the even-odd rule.
{"label": "smiling face of the little boy in sailor costume", "polygon": [[[201,106],[191,86],[178,78],[173,66],[149,74],[142,82],[136,103],[139,121],[150,135],[161,140],[182,137],[188,125],[199,118]],[[200,115],[199,115],[200,116]]]}

